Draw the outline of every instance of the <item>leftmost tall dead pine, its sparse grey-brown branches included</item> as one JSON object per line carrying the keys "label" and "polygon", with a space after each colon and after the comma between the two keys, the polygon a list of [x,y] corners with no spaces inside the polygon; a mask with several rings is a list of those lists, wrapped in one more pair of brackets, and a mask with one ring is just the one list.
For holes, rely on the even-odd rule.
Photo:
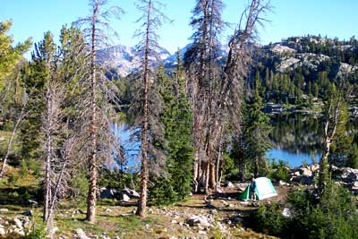
{"label": "leftmost tall dead pine, its sparse grey-brown branches included", "polygon": [[[119,18],[122,9],[117,6],[110,7],[107,11],[107,0],[90,0],[91,13],[87,18],[76,21],[79,26],[84,26],[83,36],[89,45],[89,77],[83,82],[83,89],[88,90],[81,104],[82,112],[86,115],[83,123],[83,137],[90,139],[87,145],[89,166],[89,194],[87,200],[87,217],[90,223],[96,220],[98,163],[100,159],[111,157],[110,145],[115,143],[113,132],[110,129],[110,118],[113,112],[111,101],[115,98],[113,84],[107,81],[103,69],[97,65],[97,52],[100,47],[107,46],[108,31],[113,31],[109,26],[109,18]],[[107,30],[107,32],[105,32]],[[88,110],[90,109],[90,110]],[[84,148],[86,149],[86,148]],[[102,154],[102,155],[101,155]]]}

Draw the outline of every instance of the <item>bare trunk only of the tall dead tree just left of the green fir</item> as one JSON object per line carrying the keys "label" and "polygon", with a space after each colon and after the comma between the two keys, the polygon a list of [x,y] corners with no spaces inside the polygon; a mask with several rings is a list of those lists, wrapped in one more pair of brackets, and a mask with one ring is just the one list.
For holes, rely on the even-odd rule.
{"label": "bare trunk only of the tall dead tree just left of the green fir", "polygon": [[147,12],[147,30],[146,30],[146,46],[144,51],[144,78],[143,78],[143,125],[141,129],[141,197],[138,201],[138,209],[136,214],[141,218],[146,217],[147,209],[147,190],[149,180],[148,168],[148,89],[149,89],[149,31],[150,31],[150,13],[152,3],[149,0]]}

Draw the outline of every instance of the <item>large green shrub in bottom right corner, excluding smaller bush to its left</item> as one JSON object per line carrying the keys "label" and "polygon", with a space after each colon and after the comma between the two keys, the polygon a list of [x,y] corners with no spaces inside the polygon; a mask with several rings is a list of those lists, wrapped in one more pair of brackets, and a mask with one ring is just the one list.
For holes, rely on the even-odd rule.
{"label": "large green shrub in bottom right corner, excluding smaller bush to its left", "polygon": [[358,213],[350,192],[328,183],[320,198],[314,191],[292,192],[294,209],[287,234],[292,238],[358,238]]}

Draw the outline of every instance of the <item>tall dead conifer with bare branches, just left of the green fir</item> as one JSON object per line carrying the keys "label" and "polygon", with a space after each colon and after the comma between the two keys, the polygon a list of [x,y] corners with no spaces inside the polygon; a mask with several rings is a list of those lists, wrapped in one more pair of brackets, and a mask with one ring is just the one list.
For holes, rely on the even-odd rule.
{"label": "tall dead conifer with bare branches, just left of the green fir", "polygon": [[[156,158],[161,162],[163,155],[153,146],[153,138],[158,137],[162,132],[161,125],[158,123],[158,109],[160,108],[160,99],[154,89],[155,80],[153,79],[152,67],[158,62],[158,34],[157,30],[163,21],[167,21],[164,13],[160,12],[160,7],[164,5],[156,0],[139,0],[138,9],[141,11],[141,22],[143,28],[135,32],[135,36],[140,38],[138,48],[143,54],[139,76],[141,78],[141,96],[137,96],[141,102],[137,115],[136,125],[141,129],[141,197],[138,201],[136,214],[141,218],[146,217],[149,166],[153,163],[149,158]],[[154,61],[153,61],[154,60]],[[155,135],[155,136],[154,136]]]}

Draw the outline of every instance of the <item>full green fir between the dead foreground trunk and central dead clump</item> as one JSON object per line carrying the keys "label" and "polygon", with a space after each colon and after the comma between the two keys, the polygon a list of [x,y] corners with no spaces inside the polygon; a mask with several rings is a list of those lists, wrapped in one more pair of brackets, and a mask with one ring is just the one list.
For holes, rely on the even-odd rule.
{"label": "full green fir between the dead foreground trunk and central dead clump", "polygon": [[160,120],[165,126],[166,141],[166,144],[158,143],[158,148],[166,153],[167,175],[156,180],[149,195],[156,204],[168,204],[183,201],[192,191],[192,112],[184,92],[180,64],[172,78],[166,75],[163,66],[159,68],[158,90],[164,101]]}

